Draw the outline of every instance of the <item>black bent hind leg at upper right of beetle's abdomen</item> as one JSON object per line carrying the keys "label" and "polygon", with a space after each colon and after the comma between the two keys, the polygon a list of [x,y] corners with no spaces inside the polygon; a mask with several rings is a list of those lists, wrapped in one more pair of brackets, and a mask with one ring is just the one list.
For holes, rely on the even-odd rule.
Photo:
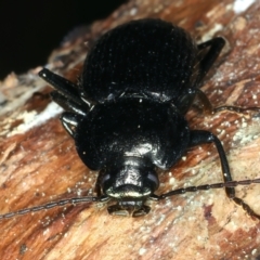
{"label": "black bent hind leg at upper right of beetle's abdomen", "polygon": [[203,51],[207,48],[209,50],[206,52],[206,54],[203,56],[203,58],[199,61],[199,74],[197,76],[197,83],[202,81],[204,76],[208,73],[217,57],[219,56],[222,48],[224,47],[225,41],[221,37],[216,37],[211,40],[208,40],[206,42],[203,42],[197,46],[199,51]]}

